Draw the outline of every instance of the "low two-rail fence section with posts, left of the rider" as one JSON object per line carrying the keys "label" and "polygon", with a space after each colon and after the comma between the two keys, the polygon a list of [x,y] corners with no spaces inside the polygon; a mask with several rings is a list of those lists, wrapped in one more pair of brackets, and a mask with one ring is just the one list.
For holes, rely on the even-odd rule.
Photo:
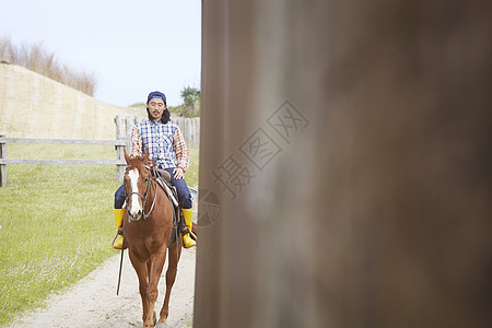
{"label": "low two-rail fence section with posts, left of the rider", "polygon": [[[42,159],[8,159],[8,143],[51,143],[51,144],[97,144],[115,145],[115,160],[42,160]],[[24,139],[7,138],[0,134],[0,187],[7,185],[7,165],[8,164],[43,164],[43,165],[116,165],[116,179],[122,180],[125,172],[124,148],[127,141],[125,139],[116,140],[71,140],[71,139]]]}

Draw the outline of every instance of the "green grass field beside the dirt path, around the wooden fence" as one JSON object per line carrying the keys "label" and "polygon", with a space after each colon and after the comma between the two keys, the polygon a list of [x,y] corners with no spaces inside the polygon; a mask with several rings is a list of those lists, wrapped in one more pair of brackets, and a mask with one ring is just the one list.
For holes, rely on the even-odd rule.
{"label": "green grass field beside the dirt path, around the wooden fence", "polygon": [[[198,186],[198,150],[186,179]],[[114,159],[114,147],[9,144],[11,159]],[[0,188],[0,326],[115,255],[114,165],[8,165]],[[115,278],[116,279],[116,278]]]}

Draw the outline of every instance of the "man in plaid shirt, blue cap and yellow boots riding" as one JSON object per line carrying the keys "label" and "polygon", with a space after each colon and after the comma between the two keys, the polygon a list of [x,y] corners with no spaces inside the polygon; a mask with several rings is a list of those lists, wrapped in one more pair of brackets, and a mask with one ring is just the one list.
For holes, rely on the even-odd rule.
{"label": "man in plaid shirt, blue cap and yellow boots riding", "polygon": [[[171,183],[176,187],[178,203],[185,218],[185,224],[191,231],[192,210],[191,195],[184,179],[184,174],[189,164],[189,152],[179,127],[169,121],[166,96],[162,92],[151,92],[147,98],[147,115],[149,119],[136,125],[131,130],[130,156],[142,156],[145,150],[149,159],[156,161],[157,168],[169,173]],[[115,222],[116,227],[121,226],[125,209],[122,204],[126,199],[125,186],[115,192]],[[124,237],[118,235],[113,243],[116,249],[122,248]],[[185,248],[196,246],[196,242],[189,233],[183,236]]]}

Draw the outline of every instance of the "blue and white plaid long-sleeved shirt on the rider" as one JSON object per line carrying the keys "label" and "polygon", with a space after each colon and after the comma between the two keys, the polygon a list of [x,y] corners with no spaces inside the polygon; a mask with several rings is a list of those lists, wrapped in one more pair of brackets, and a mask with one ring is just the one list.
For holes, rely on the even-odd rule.
{"label": "blue and white plaid long-sleeved shirt on the rider", "polygon": [[181,167],[188,169],[189,152],[179,127],[172,121],[145,119],[131,130],[130,156],[142,156],[149,150],[149,160],[156,161],[157,167]]}

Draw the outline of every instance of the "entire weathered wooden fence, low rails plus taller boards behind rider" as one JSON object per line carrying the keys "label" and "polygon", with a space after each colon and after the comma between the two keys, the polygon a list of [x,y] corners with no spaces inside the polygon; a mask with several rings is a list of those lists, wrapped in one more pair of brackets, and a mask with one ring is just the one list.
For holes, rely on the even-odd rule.
{"label": "entire weathered wooden fence, low rails plus taller boards behind rider", "polygon": [[[138,116],[116,116],[116,140],[72,140],[72,139],[24,139],[7,138],[0,134],[0,187],[7,185],[8,164],[45,164],[45,165],[116,165],[116,180],[122,181],[125,173],[124,149],[130,148],[130,133],[133,126],[144,120]],[[185,141],[189,147],[198,147],[200,118],[177,118],[174,121],[179,126]],[[50,143],[50,144],[108,144],[115,145],[115,160],[37,160],[37,159],[8,159],[8,143]]]}

